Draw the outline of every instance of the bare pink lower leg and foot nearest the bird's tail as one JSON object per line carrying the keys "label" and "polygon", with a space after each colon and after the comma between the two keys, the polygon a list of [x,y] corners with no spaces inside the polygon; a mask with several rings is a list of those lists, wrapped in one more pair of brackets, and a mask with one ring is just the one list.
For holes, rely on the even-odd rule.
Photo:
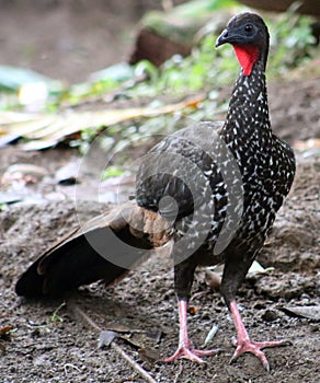
{"label": "bare pink lower leg and foot nearest the bird's tail", "polygon": [[203,363],[203,360],[199,358],[201,356],[207,356],[215,352],[215,350],[196,350],[192,347],[187,335],[186,310],[187,303],[183,300],[179,301],[179,346],[178,350],[171,357],[163,359],[164,362],[172,362],[179,358],[186,358],[194,362]]}

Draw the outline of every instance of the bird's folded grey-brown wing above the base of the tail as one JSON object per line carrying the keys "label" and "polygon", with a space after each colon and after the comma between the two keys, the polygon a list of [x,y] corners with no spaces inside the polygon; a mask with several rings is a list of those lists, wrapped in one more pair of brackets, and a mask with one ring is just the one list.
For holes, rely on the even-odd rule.
{"label": "bird's folded grey-brown wing above the base of the tail", "polygon": [[[194,124],[153,147],[138,171],[137,204],[160,211],[168,219],[192,214],[204,202],[199,190],[207,188],[207,181],[214,184],[216,175],[216,183],[220,179],[212,152],[222,125],[222,121]],[[169,199],[169,205],[161,205],[164,196],[176,204]]]}

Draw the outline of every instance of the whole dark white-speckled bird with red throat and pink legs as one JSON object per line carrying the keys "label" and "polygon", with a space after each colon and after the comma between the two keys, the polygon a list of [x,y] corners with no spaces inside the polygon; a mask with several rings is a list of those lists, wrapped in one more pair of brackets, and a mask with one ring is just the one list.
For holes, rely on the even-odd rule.
{"label": "whole dark white-speckled bird with red throat and pink legs", "polygon": [[262,349],[285,340],[250,338],[237,291],[272,229],[295,176],[295,154],[271,128],[265,69],[270,35],[255,13],[230,19],[216,40],[229,44],[240,63],[225,121],[176,130],[142,156],[135,198],[58,240],[20,277],[19,295],[59,295],[104,280],[110,285],[168,246],[174,262],[179,345],[163,361],[203,362],[215,350],[196,349],[187,307],[197,266],[224,264],[220,293],[236,327],[231,361],[250,352],[268,371]]}

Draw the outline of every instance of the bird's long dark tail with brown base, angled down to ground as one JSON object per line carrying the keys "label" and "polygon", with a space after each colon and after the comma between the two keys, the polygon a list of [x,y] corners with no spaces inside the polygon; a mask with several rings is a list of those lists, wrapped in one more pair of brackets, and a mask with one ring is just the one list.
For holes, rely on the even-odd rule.
{"label": "bird's long dark tail with brown base, angled down to ground", "polygon": [[20,277],[19,295],[61,295],[81,285],[123,278],[149,249],[169,241],[169,222],[132,202],[95,217],[55,243]]}

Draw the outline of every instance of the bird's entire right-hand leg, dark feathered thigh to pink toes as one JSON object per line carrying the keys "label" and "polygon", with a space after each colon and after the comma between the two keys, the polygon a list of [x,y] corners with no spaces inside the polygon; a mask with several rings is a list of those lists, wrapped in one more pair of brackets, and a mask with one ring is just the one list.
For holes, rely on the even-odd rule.
{"label": "bird's entire right-hand leg, dark feathered thigh to pink toes", "polygon": [[238,263],[235,262],[235,258],[228,259],[225,264],[221,281],[221,294],[228,309],[230,310],[237,333],[237,339],[233,341],[236,351],[230,362],[235,361],[244,352],[251,352],[260,359],[265,370],[270,371],[268,361],[262,349],[266,347],[287,346],[289,343],[286,340],[253,341],[250,339],[236,302],[236,292],[244,279],[250,266],[251,262],[245,264],[245,262],[242,259],[242,263]]}

